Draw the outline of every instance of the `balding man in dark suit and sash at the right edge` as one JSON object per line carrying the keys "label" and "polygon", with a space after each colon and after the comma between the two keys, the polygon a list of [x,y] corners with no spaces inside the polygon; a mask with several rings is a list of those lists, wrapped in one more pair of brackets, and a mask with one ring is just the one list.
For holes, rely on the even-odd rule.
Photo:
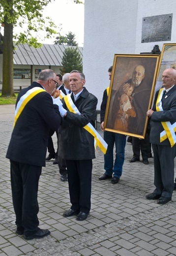
{"label": "balding man in dark suit and sash at the right edge", "polygon": [[156,92],[150,117],[150,142],[154,155],[154,185],[146,196],[158,204],[172,200],[174,190],[174,159],[176,157],[176,70],[168,68],[162,75],[164,88]]}

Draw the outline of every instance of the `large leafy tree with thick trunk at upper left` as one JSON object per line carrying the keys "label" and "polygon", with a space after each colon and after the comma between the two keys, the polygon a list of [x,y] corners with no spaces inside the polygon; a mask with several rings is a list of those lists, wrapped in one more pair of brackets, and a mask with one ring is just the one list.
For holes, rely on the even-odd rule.
{"label": "large leafy tree with thick trunk at upper left", "polygon": [[[29,46],[41,47],[37,42],[37,32],[45,31],[45,38],[56,33],[52,20],[42,16],[42,11],[51,0],[0,0],[0,24],[4,27],[2,96],[14,96],[13,92],[13,39],[16,43],[28,43]],[[82,3],[74,0],[75,3]],[[26,29],[23,30],[24,25]],[[14,27],[21,27],[22,32],[13,34]],[[36,36],[33,36],[33,32]]]}

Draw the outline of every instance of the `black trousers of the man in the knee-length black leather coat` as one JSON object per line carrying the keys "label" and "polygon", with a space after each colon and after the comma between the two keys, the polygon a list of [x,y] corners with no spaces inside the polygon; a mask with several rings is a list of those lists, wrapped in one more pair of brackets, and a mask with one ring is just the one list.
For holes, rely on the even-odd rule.
{"label": "black trousers of the man in the knee-length black leather coat", "polygon": [[92,160],[66,160],[71,209],[89,213]]}

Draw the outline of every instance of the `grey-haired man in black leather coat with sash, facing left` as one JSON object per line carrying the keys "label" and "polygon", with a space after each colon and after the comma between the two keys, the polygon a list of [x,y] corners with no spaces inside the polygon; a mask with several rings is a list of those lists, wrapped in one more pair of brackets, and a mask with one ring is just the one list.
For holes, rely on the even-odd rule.
{"label": "grey-haired man in black leather coat with sash, facing left", "polygon": [[95,158],[94,137],[84,127],[94,126],[97,98],[85,87],[85,75],[70,72],[71,95],[63,97],[59,156],[66,160],[71,209],[64,217],[77,215],[77,221],[86,220],[90,211],[92,159]]}

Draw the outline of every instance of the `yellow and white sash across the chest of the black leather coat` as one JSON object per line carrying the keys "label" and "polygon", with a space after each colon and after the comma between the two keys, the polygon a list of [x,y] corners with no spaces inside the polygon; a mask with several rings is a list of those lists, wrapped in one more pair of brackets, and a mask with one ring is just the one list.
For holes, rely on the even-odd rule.
{"label": "yellow and white sash across the chest of the black leather coat", "polygon": [[[64,97],[64,101],[65,101],[65,104],[66,104],[66,106],[67,106],[67,108],[70,112],[81,115],[78,108],[73,103],[73,100],[71,98],[71,94],[66,95]],[[101,149],[101,151],[104,154],[106,154],[108,144],[104,141],[104,139],[100,136],[100,134],[95,130],[95,128],[90,123],[88,123],[83,128],[85,128],[94,137],[95,149],[96,149],[96,146],[98,146]]]}

